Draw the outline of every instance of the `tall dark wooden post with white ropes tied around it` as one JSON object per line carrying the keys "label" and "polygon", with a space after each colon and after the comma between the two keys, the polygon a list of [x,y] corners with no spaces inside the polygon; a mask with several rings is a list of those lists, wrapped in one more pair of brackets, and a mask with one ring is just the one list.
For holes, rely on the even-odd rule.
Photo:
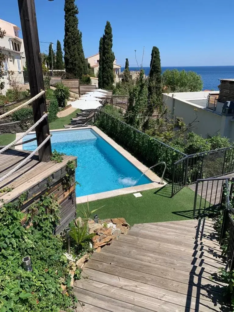
{"label": "tall dark wooden post with white ropes tied around it", "polygon": [[[41,67],[41,53],[37,31],[37,18],[34,0],[18,0],[21,28],[23,34],[25,56],[27,60],[28,80],[31,96],[44,90]],[[46,112],[45,95],[32,104],[34,122]],[[50,134],[48,119],[45,118],[36,128],[37,146]],[[39,150],[39,160],[48,162],[51,157],[50,140]]]}

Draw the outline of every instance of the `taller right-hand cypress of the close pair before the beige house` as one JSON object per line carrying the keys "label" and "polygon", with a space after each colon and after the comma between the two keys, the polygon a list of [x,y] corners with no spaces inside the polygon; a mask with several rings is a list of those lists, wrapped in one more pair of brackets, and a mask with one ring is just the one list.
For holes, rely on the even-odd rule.
{"label": "taller right-hand cypress of the close pair before the beige house", "polygon": [[110,22],[107,21],[105,34],[103,36],[102,83],[104,89],[113,89],[113,62],[115,60],[115,55],[112,52],[112,46],[112,28]]}

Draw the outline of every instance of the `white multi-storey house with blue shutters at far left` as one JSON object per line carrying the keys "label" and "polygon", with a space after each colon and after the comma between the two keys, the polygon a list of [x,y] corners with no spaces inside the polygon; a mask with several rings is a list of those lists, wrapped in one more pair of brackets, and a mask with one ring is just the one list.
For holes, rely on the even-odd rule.
{"label": "white multi-storey house with blue shutters at far left", "polygon": [[10,80],[14,78],[17,83],[24,84],[23,66],[26,64],[23,39],[19,37],[20,28],[16,25],[0,19],[0,28],[6,31],[3,39],[0,39],[0,49],[6,55],[6,61],[3,63],[5,71],[5,88],[3,94],[9,88],[8,71],[11,71]]}

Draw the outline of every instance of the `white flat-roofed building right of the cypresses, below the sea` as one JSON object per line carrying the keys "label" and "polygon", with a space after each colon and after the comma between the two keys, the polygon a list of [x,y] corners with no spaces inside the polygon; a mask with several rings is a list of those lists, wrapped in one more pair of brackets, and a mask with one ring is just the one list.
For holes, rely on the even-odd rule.
{"label": "white flat-roofed building right of the cypresses, below the sea", "polygon": [[163,93],[171,118],[197,123],[193,132],[207,138],[218,132],[234,141],[234,79],[220,79],[220,91]]}

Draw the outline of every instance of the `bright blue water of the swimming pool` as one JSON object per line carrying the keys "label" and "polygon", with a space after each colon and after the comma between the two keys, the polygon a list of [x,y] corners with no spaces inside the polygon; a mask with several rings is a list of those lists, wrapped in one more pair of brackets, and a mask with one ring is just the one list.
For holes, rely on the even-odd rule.
{"label": "bright blue water of the swimming pool", "polygon": [[[140,178],[142,173],[92,129],[51,133],[52,150],[77,156],[77,197],[152,182],[145,175]],[[34,137],[28,134],[23,140]],[[36,147],[36,141],[23,145],[27,150]]]}

